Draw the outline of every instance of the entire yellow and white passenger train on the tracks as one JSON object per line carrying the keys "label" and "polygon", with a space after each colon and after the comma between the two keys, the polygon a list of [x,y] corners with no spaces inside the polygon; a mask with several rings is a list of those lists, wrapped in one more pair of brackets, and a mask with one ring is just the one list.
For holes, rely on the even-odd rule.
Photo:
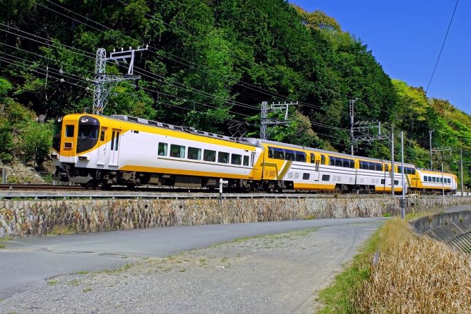
{"label": "entire yellow and white passenger train on the tracks", "polygon": [[[234,190],[391,192],[391,162],[232,138],[130,116],[73,114],[55,120],[53,180],[107,187],[154,184]],[[394,191],[402,191],[400,164]],[[456,191],[456,176],[405,164],[405,189]]]}

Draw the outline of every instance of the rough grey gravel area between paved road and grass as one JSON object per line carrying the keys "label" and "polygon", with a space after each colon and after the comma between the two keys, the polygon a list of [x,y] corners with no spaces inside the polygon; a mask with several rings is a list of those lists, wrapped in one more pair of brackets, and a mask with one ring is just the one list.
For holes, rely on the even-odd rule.
{"label": "rough grey gravel area between paved road and grass", "polygon": [[51,278],[3,299],[0,312],[313,313],[316,291],[379,225],[269,234],[163,259],[130,258],[118,270]]}

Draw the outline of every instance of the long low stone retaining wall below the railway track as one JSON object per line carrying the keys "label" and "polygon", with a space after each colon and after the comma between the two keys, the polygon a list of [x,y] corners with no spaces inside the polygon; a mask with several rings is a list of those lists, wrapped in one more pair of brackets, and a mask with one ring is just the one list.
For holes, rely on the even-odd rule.
{"label": "long low stone retaining wall below the railway track", "polygon": [[[446,206],[471,198],[446,198]],[[434,210],[441,199],[421,198],[407,212]],[[45,234],[299,219],[377,217],[399,214],[384,198],[240,198],[181,200],[0,201],[0,238]]]}

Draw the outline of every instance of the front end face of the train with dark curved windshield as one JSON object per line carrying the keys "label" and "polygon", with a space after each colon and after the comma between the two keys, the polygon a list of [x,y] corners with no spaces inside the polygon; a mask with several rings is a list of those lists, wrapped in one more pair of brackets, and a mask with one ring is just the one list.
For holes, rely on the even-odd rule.
{"label": "front end face of the train with dark curved windshield", "polygon": [[53,180],[84,186],[94,181],[100,145],[99,132],[98,116],[73,114],[55,121],[51,154],[56,167]]}

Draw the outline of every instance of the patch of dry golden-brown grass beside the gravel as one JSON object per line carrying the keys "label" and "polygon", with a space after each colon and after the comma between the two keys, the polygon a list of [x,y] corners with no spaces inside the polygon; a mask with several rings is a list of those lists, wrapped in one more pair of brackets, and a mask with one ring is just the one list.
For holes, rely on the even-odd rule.
{"label": "patch of dry golden-brown grass beside the gravel", "polygon": [[352,295],[355,312],[471,313],[470,255],[429,237],[417,239],[400,219],[386,223],[379,238],[377,266],[371,266],[371,254],[360,261],[370,266]]}

